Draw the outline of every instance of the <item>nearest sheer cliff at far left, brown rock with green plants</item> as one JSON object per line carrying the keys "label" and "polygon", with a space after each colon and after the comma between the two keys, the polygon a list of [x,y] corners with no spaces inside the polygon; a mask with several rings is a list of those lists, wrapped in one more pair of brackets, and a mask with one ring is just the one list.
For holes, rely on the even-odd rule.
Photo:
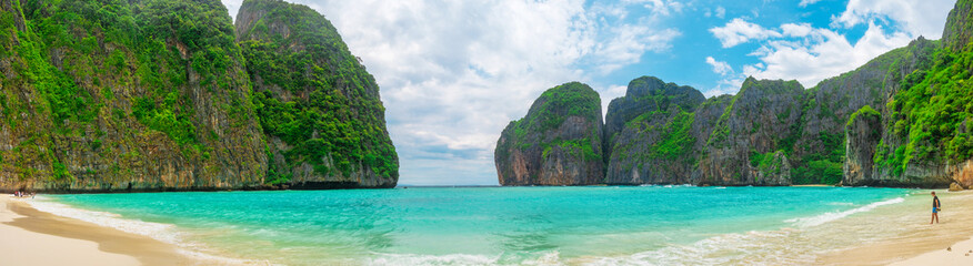
{"label": "nearest sheer cliff at far left, brown rock with green plants", "polygon": [[268,186],[219,1],[0,0],[0,190]]}

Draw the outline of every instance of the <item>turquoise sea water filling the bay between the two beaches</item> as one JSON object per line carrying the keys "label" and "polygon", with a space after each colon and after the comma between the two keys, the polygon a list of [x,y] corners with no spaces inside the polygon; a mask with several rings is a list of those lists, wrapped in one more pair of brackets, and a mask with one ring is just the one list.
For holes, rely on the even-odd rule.
{"label": "turquoise sea water filling the bay between the two beaches", "polygon": [[782,244],[769,239],[794,238],[783,245],[817,249],[814,242],[827,239],[802,232],[826,231],[829,223],[901,203],[910,193],[608,186],[49,197],[124,221],[174,225],[152,234],[172,234],[191,249],[288,265],[722,264],[749,257],[775,264],[803,260],[775,260],[781,254],[764,249]]}

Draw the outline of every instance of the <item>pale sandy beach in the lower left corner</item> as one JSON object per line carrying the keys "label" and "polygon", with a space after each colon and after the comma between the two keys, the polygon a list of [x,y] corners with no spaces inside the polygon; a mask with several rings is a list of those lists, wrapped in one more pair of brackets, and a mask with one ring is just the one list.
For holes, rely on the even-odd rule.
{"label": "pale sandy beach in the lower left corner", "polygon": [[39,212],[24,201],[0,196],[0,258],[4,265],[197,265],[177,247]]}

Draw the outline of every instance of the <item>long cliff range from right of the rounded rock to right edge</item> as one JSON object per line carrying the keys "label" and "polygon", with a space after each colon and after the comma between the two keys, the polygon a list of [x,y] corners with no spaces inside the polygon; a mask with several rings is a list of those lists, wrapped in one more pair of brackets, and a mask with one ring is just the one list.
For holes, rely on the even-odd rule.
{"label": "long cliff range from right of the rounded rock to right edge", "polygon": [[956,3],[942,41],[920,37],[808,90],[750,78],[736,95],[703,99],[633,80],[609,105],[599,184],[970,188],[971,9],[973,0]]}

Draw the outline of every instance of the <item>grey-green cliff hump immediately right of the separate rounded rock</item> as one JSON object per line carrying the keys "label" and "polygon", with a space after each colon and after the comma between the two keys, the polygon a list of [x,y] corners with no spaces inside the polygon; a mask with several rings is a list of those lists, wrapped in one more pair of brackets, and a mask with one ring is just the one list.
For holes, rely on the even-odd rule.
{"label": "grey-green cliff hump immediately right of the separate rounded rock", "polygon": [[630,82],[625,96],[612,100],[605,117],[605,183],[689,183],[701,150],[696,140],[709,132],[695,119],[703,101],[695,89],[654,76]]}

